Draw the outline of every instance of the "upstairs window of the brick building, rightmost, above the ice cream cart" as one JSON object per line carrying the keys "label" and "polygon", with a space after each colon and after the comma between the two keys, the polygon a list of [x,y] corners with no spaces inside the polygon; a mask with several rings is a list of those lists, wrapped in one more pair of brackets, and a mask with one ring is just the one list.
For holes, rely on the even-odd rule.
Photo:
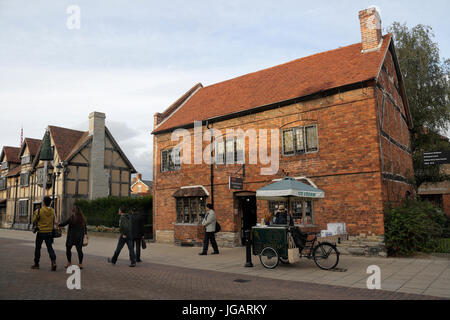
{"label": "upstairs window of the brick building, rightmost, above the ice cream cart", "polygon": [[286,129],[282,134],[283,155],[317,152],[319,139],[317,125]]}

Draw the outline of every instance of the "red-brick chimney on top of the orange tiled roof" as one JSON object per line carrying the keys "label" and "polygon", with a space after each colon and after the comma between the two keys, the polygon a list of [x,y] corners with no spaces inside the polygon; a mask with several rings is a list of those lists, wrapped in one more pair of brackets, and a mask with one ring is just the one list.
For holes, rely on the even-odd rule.
{"label": "red-brick chimney on top of the orange tiled roof", "polygon": [[381,17],[374,7],[359,12],[361,25],[361,42],[363,53],[376,50],[381,47],[383,37],[381,35]]}

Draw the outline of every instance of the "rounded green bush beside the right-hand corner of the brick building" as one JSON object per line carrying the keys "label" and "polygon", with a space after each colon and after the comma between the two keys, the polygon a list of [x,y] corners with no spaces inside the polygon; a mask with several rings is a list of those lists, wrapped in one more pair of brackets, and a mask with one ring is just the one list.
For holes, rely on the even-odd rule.
{"label": "rounded green bush beside the right-hand corner of the brick building", "polygon": [[443,236],[446,217],[428,201],[406,200],[385,209],[385,245],[389,255],[431,252]]}

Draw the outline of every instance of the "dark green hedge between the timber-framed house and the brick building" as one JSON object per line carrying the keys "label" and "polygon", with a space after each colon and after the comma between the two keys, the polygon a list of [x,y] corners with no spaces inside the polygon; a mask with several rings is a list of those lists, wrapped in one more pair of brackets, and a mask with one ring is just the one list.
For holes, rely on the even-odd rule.
{"label": "dark green hedge between the timber-framed house and the brick building", "polygon": [[126,211],[135,208],[137,212],[147,214],[147,218],[150,221],[147,220],[146,223],[151,224],[152,196],[143,198],[109,197],[96,200],[78,199],[75,204],[81,208],[86,217],[87,224],[91,226],[117,228],[119,226],[118,211],[121,206],[124,206]]}

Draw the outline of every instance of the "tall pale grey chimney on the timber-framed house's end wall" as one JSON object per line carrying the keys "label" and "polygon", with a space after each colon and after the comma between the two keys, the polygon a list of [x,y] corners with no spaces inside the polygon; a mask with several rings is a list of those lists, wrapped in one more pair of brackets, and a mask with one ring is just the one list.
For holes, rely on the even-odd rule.
{"label": "tall pale grey chimney on the timber-framed house's end wall", "polygon": [[105,114],[89,114],[89,135],[92,136],[89,164],[89,199],[107,197],[109,178],[105,171]]}

